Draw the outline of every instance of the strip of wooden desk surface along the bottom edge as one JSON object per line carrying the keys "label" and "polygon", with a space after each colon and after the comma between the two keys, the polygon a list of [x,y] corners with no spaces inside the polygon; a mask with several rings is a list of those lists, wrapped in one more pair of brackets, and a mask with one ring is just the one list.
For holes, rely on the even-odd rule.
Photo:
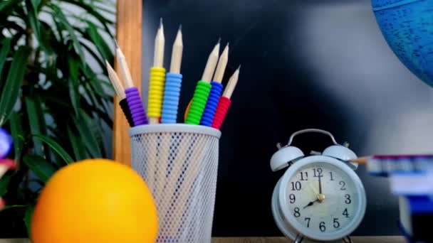
{"label": "strip of wooden desk surface along the bottom edge", "polygon": [[[353,237],[354,243],[403,243],[403,237]],[[29,243],[28,239],[0,239],[0,243]],[[212,243],[287,243],[283,237],[218,237]]]}

